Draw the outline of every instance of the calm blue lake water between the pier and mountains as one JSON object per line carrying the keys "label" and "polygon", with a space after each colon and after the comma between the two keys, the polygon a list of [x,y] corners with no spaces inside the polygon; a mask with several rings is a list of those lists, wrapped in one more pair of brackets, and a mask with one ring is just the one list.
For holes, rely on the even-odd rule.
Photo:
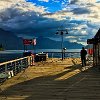
{"label": "calm blue lake water between the pier and mountains", "polygon": [[[56,52],[61,52],[61,49],[37,49],[37,50],[29,50],[32,53],[41,53],[41,52],[55,52],[55,53],[49,53],[49,57],[61,57],[61,53],[56,53]],[[9,60],[14,60],[16,58],[21,58],[23,57],[23,52],[24,50],[5,50],[5,51],[0,51],[0,63],[9,61]],[[66,52],[80,52],[80,49],[68,49]],[[79,53],[76,53],[72,55],[71,53],[66,53],[65,57],[79,57]]]}

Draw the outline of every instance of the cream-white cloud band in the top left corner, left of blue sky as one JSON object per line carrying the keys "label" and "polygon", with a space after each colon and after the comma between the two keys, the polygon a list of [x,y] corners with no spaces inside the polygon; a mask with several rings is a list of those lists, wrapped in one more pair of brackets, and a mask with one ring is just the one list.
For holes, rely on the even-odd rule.
{"label": "cream-white cloud band in the top left corner, left of blue sky", "polygon": [[16,8],[17,10],[34,11],[44,13],[45,8],[43,6],[36,6],[35,4],[26,2],[25,0],[2,0],[0,1],[0,10],[6,10],[7,8]]}

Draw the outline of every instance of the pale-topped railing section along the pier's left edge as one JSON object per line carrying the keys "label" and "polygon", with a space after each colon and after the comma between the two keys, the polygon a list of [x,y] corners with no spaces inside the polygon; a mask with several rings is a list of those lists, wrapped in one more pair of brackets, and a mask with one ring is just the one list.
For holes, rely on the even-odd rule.
{"label": "pale-topped railing section along the pier's left edge", "polygon": [[28,68],[28,66],[33,64],[33,62],[34,62],[34,56],[28,56],[0,63],[0,74],[6,73],[9,75],[8,78],[11,78],[12,76],[18,74],[22,70]]}

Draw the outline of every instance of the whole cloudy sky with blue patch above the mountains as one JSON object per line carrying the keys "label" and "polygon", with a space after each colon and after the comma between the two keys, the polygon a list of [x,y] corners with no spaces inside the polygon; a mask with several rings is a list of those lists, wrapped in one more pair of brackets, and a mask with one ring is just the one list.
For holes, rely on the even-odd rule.
{"label": "whole cloudy sky with blue patch above the mountains", "polygon": [[50,37],[86,44],[100,28],[100,0],[0,0],[0,28],[18,36]]}

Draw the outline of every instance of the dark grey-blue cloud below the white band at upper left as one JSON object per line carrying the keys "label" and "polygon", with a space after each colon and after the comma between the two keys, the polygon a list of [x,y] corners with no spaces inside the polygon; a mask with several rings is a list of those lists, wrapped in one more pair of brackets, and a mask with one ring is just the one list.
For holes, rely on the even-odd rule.
{"label": "dark grey-blue cloud below the white band at upper left", "polygon": [[34,11],[23,11],[17,8],[7,8],[0,12],[1,23],[7,28],[25,28],[38,24],[39,21],[47,20],[41,14]]}

